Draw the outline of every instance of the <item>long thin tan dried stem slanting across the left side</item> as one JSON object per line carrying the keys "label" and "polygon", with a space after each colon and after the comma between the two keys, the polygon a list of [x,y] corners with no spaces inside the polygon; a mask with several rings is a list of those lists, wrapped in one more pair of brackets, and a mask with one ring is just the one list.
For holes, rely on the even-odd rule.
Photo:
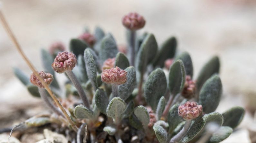
{"label": "long thin tan dried stem slanting across the left side", "polygon": [[28,60],[28,58],[26,57],[26,55],[24,54],[24,52],[21,49],[20,44],[18,43],[17,39],[15,38],[13,32],[11,31],[9,25],[7,24],[5,17],[2,13],[2,10],[0,9],[0,19],[1,22],[6,30],[6,32],[8,33],[8,35],[11,37],[11,40],[13,41],[15,47],[17,48],[18,52],[21,54],[22,58],[25,60],[25,62],[27,63],[27,65],[29,66],[29,68],[33,71],[33,73],[35,73],[35,75],[38,77],[38,79],[42,82],[43,86],[45,87],[45,89],[49,92],[49,94],[51,95],[52,99],[54,100],[54,102],[57,104],[57,106],[61,109],[61,111],[63,112],[63,114],[65,115],[65,117],[67,118],[68,122],[70,123],[71,127],[73,128],[74,131],[77,131],[78,128],[76,127],[75,123],[71,120],[70,116],[68,115],[68,113],[66,112],[66,110],[64,109],[64,107],[61,105],[60,101],[57,99],[57,97],[52,93],[50,87],[44,82],[43,78],[41,76],[39,76],[38,71],[36,70],[36,68],[34,68],[33,64]]}

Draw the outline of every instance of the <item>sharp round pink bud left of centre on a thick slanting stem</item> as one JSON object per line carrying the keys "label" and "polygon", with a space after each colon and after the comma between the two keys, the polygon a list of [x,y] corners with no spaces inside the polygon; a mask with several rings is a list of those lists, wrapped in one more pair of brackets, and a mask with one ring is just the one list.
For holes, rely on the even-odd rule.
{"label": "sharp round pink bud left of centre on a thick slanting stem", "polygon": [[63,73],[66,70],[72,70],[76,63],[76,56],[72,52],[59,52],[52,63],[52,69],[57,73]]}

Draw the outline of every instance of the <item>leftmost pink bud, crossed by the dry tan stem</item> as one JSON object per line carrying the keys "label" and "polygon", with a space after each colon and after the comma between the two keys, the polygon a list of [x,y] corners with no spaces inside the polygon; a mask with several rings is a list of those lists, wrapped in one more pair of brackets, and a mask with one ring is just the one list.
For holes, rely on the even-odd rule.
{"label": "leftmost pink bud, crossed by the dry tan stem", "polygon": [[[53,76],[50,73],[45,73],[43,71],[38,73],[44,80],[45,83],[47,83],[48,85],[52,82],[53,80]],[[35,73],[32,73],[30,75],[30,82],[33,83],[34,85],[40,87],[40,88],[44,88],[42,82],[39,80],[39,78],[35,75]]]}

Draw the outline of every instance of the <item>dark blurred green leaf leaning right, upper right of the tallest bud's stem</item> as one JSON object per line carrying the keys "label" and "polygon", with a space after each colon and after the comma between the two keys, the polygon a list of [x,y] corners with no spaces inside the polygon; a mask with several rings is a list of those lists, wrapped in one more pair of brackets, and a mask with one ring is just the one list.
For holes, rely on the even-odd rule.
{"label": "dark blurred green leaf leaning right, upper right of the tallest bud's stem", "polygon": [[161,46],[156,58],[153,61],[153,66],[159,66],[161,68],[165,65],[165,60],[171,59],[175,56],[177,46],[177,40],[175,37],[168,38]]}

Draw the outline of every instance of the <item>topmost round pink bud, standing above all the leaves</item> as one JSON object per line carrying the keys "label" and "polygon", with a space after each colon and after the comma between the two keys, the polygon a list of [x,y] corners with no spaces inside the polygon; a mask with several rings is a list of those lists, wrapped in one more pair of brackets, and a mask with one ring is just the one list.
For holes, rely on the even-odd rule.
{"label": "topmost round pink bud, standing above all the leaves", "polygon": [[138,30],[145,26],[144,17],[136,12],[131,12],[123,17],[123,25],[130,30]]}

